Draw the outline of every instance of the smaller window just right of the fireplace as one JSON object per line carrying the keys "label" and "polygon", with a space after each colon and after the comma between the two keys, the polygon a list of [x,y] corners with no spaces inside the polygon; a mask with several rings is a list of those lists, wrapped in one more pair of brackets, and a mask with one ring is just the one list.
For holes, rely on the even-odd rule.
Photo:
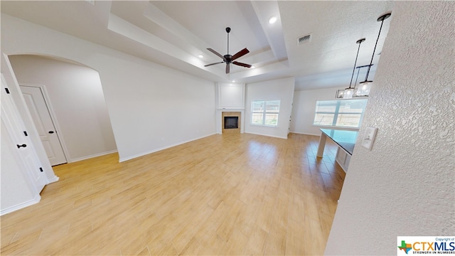
{"label": "smaller window just right of the fireplace", "polygon": [[279,100],[255,100],[251,102],[251,123],[278,126]]}

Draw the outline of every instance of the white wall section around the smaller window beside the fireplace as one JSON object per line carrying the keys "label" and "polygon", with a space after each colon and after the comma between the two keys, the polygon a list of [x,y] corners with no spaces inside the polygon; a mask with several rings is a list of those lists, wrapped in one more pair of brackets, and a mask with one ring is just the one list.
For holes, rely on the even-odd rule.
{"label": "white wall section around the smaller window beside the fireplace", "polygon": [[[283,78],[247,84],[245,103],[245,132],[287,139],[289,117],[294,96],[294,78]],[[281,100],[278,127],[251,124],[251,102],[254,100]]]}

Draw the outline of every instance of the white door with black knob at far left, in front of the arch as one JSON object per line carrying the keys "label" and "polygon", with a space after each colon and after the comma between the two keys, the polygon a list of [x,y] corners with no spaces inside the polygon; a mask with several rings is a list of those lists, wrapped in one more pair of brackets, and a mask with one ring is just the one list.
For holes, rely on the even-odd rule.
{"label": "white door with black knob at far left, in front of the arch", "polygon": [[47,183],[47,178],[43,173],[41,161],[36,155],[31,139],[26,134],[25,124],[19,118],[16,105],[7,92],[9,90],[3,74],[1,75],[1,90],[1,123],[6,128],[6,131],[2,132],[9,134],[11,142],[14,144],[12,147],[16,147],[18,152],[18,160],[26,169],[26,176],[30,178],[36,192],[40,193]]}

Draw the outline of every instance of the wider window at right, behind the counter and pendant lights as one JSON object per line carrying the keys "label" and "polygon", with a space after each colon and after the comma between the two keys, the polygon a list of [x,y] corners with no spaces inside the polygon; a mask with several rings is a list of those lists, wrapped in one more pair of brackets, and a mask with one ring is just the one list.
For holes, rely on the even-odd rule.
{"label": "wider window at right, behind the counter and pendant lights", "polygon": [[316,101],[314,125],[360,127],[367,100]]}

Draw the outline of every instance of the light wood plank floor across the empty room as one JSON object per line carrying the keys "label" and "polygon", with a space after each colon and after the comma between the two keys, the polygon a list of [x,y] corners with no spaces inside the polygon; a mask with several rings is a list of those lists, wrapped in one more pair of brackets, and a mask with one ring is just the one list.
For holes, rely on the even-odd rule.
{"label": "light wood plank floor across the empty room", "polygon": [[322,255],[344,172],[319,137],[216,134],[55,166],[1,220],[1,255]]}

